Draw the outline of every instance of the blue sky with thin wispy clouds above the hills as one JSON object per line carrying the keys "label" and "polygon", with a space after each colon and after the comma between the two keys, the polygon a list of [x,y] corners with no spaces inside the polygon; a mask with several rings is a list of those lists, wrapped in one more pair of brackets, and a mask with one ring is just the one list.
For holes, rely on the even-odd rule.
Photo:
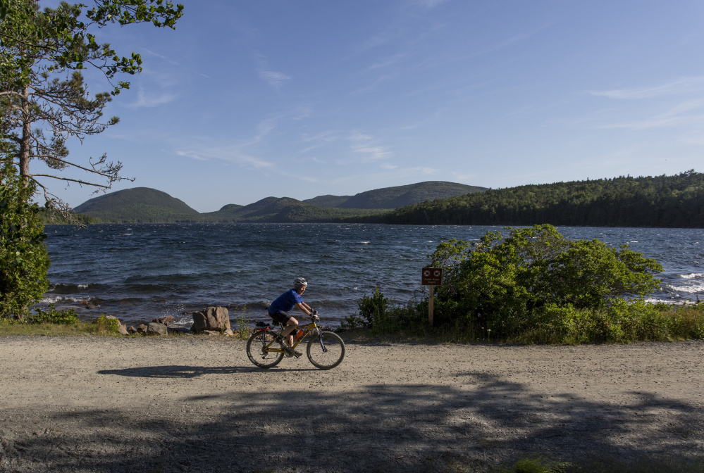
{"label": "blue sky with thin wispy clouds above the hills", "polygon": [[[122,161],[136,180],[113,190],[208,212],[426,180],[704,170],[701,1],[180,3],[173,31],[98,36],[144,59],[106,111],[121,122],[71,149]],[[92,197],[53,189],[71,206]]]}

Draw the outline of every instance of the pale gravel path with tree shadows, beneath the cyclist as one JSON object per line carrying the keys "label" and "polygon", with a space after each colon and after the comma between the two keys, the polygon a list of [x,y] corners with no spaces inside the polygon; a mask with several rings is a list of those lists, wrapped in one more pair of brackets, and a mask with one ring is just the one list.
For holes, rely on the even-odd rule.
{"label": "pale gravel path with tree shadows, beneath the cyclist", "polygon": [[[704,456],[704,341],[348,344],[323,372],[206,337],[0,338],[0,472],[416,472]],[[453,470],[455,471],[455,470]],[[464,470],[459,470],[464,471]]]}

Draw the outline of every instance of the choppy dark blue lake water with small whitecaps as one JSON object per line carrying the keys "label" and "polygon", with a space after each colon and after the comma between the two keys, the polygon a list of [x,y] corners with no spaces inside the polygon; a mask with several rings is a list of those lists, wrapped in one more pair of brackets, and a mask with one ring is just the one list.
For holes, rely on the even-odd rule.
{"label": "choppy dark blue lake water with small whitecaps", "polygon": [[[266,307],[305,277],[306,301],[328,324],[357,310],[375,287],[407,302],[440,241],[471,240],[502,227],[340,224],[47,225],[51,289],[44,303],[132,324],[223,305],[268,320]],[[655,258],[665,267],[653,298],[704,299],[704,230],[558,227],[569,239],[597,238]],[[426,288],[425,288],[426,289]],[[427,289],[426,289],[427,291]],[[331,322],[331,323],[330,323]]]}

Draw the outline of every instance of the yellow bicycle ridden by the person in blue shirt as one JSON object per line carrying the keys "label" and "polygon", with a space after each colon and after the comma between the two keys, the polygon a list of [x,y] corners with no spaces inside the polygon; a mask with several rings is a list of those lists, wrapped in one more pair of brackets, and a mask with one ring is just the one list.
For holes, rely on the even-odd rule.
{"label": "yellow bicycle ridden by the person in blue shirt", "polygon": [[[308,360],[319,370],[331,370],[340,365],[342,358],[345,358],[345,342],[335,332],[323,330],[323,327],[317,325],[315,323],[317,318],[312,315],[309,324],[299,325],[295,329],[293,332],[294,343],[291,348],[295,349],[307,336],[314,334],[306,347]],[[281,324],[274,325],[280,326]],[[271,325],[266,325],[264,328],[257,329],[247,340],[247,357],[258,367],[267,369],[275,367],[286,353],[283,346],[276,340],[279,333],[274,332],[273,328]],[[303,332],[297,336],[300,330]],[[286,342],[283,341],[283,343]]]}

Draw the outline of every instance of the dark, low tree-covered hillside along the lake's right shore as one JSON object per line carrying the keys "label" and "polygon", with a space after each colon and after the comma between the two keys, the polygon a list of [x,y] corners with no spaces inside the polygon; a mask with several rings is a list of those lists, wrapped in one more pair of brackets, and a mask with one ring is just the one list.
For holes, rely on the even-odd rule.
{"label": "dark, low tree-covered hillside along the lake's right shore", "polygon": [[442,198],[357,219],[414,225],[704,227],[704,174],[556,182]]}

